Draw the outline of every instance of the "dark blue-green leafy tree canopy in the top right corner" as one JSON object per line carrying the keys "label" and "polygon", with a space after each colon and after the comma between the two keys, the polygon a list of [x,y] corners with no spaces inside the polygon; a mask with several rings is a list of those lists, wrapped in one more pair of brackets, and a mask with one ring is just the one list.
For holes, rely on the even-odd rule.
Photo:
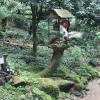
{"label": "dark blue-green leafy tree canopy in the top right corner", "polygon": [[100,26],[100,0],[65,0],[64,4],[78,19],[85,19],[87,25]]}

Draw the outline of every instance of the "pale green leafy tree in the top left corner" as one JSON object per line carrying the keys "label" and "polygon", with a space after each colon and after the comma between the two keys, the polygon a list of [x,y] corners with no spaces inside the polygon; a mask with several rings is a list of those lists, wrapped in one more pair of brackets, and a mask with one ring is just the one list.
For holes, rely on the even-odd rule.
{"label": "pale green leafy tree in the top left corner", "polygon": [[14,0],[1,0],[0,1],[0,19],[3,31],[6,31],[7,20],[17,15],[16,11],[20,9],[22,4]]}

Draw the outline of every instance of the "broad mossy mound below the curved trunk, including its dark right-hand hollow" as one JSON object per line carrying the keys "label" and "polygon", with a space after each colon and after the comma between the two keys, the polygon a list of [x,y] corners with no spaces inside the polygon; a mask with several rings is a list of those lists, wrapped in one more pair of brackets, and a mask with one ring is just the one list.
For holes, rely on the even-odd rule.
{"label": "broad mossy mound below the curved trunk, including its dark right-hand hollow", "polygon": [[46,94],[55,97],[59,97],[59,92],[69,92],[76,85],[72,81],[68,80],[53,80],[51,78],[36,78],[32,83],[35,87],[38,87],[41,91]]}

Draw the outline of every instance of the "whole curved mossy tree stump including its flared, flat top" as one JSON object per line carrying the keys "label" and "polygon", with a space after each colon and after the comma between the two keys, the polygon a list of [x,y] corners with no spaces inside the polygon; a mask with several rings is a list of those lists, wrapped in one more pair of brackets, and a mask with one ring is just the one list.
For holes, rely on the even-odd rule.
{"label": "whole curved mossy tree stump including its flared, flat top", "polygon": [[51,43],[49,47],[53,50],[53,55],[48,67],[39,73],[40,76],[43,77],[52,76],[54,74],[54,72],[60,65],[60,61],[63,56],[64,50],[69,47],[69,44],[63,41],[55,41]]}

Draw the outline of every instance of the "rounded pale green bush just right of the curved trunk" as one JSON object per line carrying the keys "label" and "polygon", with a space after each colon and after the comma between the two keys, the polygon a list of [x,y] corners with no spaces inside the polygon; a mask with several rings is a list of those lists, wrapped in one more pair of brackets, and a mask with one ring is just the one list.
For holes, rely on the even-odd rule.
{"label": "rounded pale green bush just right of the curved trunk", "polygon": [[62,63],[60,65],[61,70],[67,68],[74,70],[76,67],[86,64],[86,54],[84,49],[80,47],[70,47],[64,52]]}

